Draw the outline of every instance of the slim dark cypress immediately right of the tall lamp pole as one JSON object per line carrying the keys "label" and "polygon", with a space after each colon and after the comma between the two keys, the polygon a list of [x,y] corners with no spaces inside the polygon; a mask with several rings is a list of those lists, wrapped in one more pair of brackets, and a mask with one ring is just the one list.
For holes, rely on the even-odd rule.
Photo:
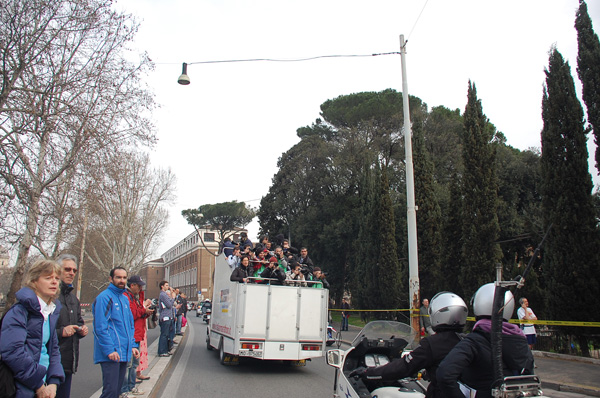
{"label": "slim dark cypress immediately right of the tall lamp pole", "polygon": [[440,291],[442,213],[436,197],[433,163],[425,148],[422,123],[413,123],[415,201],[419,207],[417,241],[419,249],[419,285],[421,297]]}

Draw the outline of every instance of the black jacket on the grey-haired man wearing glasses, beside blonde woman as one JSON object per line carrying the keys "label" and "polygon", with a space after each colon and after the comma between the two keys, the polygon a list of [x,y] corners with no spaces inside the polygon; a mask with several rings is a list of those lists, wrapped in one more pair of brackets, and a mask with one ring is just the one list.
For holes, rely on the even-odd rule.
{"label": "black jacket on the grey-haired man wearing glasses, beside blonde woman", "polygon": [[65,326],[79,325],[85,323],[81,317],[81,307],[79,300],[73,292],[73,286],[60,283],[60,295],[58,300],[62,304],[58,322],[56,322],[56,335],[58,336],[58,346],[60,348],[60,356],[65,373],[77,372],[77,364],[79,362],[79,339],[82,336],[75,333],[70,337],[62,337],[62,332]]}

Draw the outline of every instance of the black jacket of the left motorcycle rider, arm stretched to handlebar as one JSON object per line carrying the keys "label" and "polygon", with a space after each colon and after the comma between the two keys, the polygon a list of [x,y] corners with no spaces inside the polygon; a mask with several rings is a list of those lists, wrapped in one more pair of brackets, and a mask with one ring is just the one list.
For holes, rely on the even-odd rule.
{"label": "black jacket of the left motorcycle rider, arm stretched to handlebar", "polygon": [[[430,377],[427,398],[443,397],[436,379],[438,365],[462,339],[460,333],[446,331],[436,333],[421,340],[421,344],[403,358],[394,359],[387,365],[368,368],[368,379],[397,380],[416,374],[419,370],[427,370]],[[464,397],[463,397],[464,398]]]}

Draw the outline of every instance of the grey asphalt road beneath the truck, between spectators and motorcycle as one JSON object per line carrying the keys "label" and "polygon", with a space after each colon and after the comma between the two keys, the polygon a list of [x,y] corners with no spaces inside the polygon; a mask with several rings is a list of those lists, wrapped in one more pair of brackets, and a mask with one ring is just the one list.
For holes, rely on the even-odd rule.
{"label": "grey asphalt road beneath the truck, between spectators and motorcycle", "polygon": [[280,361],[242,359],[223,366],[206,348],[206,324],[191,317],[185,339],[173,358],[170,374],[157,397],[330,397],[334,368],[325,358],[290,367]]}

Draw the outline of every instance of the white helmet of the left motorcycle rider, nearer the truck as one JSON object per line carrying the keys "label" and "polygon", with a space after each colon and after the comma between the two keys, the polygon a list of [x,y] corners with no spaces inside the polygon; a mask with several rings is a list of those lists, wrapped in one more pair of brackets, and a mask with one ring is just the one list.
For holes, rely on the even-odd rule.
{"label": "white helmet of the left motorcycle rider, nearer the truck", "polygon": [[429,319],[433,330],[442,326],[463,327],[467,323],[469,309],[460,296],[450,292],[440,292],[433,296],[429,304]]}

